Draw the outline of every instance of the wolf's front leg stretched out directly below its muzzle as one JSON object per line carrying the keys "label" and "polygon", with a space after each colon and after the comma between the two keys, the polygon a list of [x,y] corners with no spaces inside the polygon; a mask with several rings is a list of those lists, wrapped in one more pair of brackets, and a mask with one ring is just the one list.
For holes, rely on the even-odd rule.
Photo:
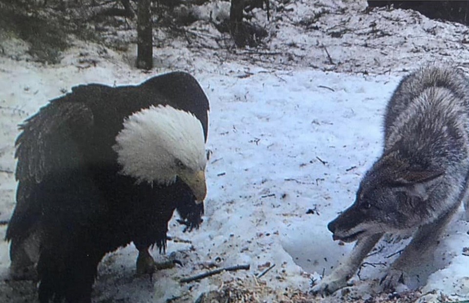
{"label": "wolf's front leg stretched out directly below its muzzle", "polygon": [[383,234],[375,234],[359,239],[350,257],[334,268],[329,276],[322,278],[322,280],[313,287],[313,293],[328,295],[347,286],[347,281],[352,278],[360,267],[363,259],[382,236]]}

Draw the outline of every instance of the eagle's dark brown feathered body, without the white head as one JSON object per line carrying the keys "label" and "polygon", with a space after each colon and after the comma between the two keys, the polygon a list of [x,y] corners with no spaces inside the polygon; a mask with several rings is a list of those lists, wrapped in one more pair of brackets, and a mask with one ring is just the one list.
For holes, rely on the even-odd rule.
{"label": "eagle's dark brown feathered body, without the white head", "polygon": [[203,205],[180,179],[158,186],[119,173],[112,146],[124,118],[160,104],[194,114],[207,138],[208,100],[183,72],[138,86],[74,87],[21,126],[17,205],[6,239],[13,260],[14,247],[38,233],[41,303],[90,302],[103,256],[131,241],[139,250],[164,248],[175,209],[190,224],[200,222]]}

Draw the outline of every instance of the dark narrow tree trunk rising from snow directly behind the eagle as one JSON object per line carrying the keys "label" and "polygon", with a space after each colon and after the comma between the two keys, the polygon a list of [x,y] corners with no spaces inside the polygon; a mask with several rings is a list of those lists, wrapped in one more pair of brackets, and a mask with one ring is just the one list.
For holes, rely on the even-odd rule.
{"label": "dark narrow tree trunk rising from snow directly behind the eagle", "polygon": [[151,0],[138,0],[137,11],[137,68],[151,69],[153,67]]}

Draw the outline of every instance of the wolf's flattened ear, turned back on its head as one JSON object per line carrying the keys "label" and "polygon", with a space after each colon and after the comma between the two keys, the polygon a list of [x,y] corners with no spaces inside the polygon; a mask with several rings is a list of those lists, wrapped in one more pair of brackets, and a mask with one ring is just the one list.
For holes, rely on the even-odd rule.
{"label": "wolf's flattened ear, turned back on its head", "polygon": [[433,188],[440,184],[444,175],[445,173],[441,171],[410,171],[400,176],[396,183],[409,195],[420,197],[425,201]]}

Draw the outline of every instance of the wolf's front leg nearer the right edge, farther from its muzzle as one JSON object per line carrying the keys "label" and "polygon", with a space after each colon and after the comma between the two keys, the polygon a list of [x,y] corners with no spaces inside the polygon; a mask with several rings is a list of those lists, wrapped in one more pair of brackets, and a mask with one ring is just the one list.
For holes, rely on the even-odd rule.
{"label": "wolf's front leg nearer the right edge, farther from its muzzle", "polygon": [[[380,285],[384,290],[396,290],[399,286],[406,287],[411,284],[410,273],[414,268],[430,262],[438,239],[453,214],[454,210],[450,210],[435,221],[419,227],[410,243],[381,279]],[[415,279],[417,279],[416,276]]]}

